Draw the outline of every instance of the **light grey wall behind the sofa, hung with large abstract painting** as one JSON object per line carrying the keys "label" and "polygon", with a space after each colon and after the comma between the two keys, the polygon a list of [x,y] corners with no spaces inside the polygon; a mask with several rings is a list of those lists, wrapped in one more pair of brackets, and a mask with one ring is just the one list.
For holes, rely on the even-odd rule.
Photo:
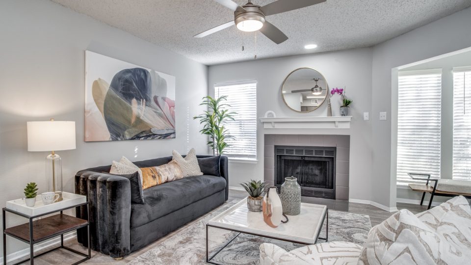
{"label": "light grey wall behind the sofa, hung with large abstract painting", "polygon": [[[73,192],[75,172],[131,160],[185,153],[207,154],[206,137],[192,116],[207,94],[207,66],[47,0],[0,1],[0,205],[23,197],[27,182],[45,185],[47,152],[27,152],[26,121],[75,121],[77,149],[60,151],[64,190]],[[85,50],[176,77],[177,138],[83,142]],[[7,225],[25,219],[7,215]],[[8,253],[26,247],[8,239]]]}

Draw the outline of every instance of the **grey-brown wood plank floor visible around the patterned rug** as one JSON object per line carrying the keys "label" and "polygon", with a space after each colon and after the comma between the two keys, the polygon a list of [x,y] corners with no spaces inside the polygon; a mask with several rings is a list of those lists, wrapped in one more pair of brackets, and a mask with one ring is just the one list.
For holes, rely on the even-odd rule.
{"label": "grey-brown wood plank floor visible around the patterned rug", "polygon": [[[228,201],[233,201],[233,200],[241,200],[247,196],[247,193],[245,191],[239,191],[239,190],[230,190],[229,191],[229,200]],[[303,202],[307,203],[315,203],[315,204],[323,204],[327,205],[327,207],[330,210],[336,210],[336,211],[344,211],[344,212],[354,212],[354,213],[360,213],[360,214],[367,214],[369,215],[371,219],[371,225],[375,226],[385,219],[387,219],[389,216],[391,216],[392,212],[386,212],[383,211],[379,208],[376,208],[372,205],[366,205],[366,204],[359,204],[359,203],[349,203],[347,201],[338,201],[338,200],[327,200],[327,199],[319,199],[319,198],[306,198],[303,197],[302,199]],[[398,209],[408,209],[411,212],[418,213],[418,212],[423,212],[427,210],[426,206],[419,206],[419,205],[413,205],[413,204],[405,204],[405,203],[398,203],[397,204]],[[201,217],[202,218],[202,217]],[[165,236],[164,238],[160,238],[153,244],[147,246],[144,249],[141,249],[140,251],[131,253],[131,255],[125,257],[122,260],[115,261],[109,256],[103,255],[101,253],[92,251],[92,258],[83,264],[94,264],[94,265],[105,265],[105,264],[115,264],[115,265],[121,265],[121,264],[126,264],[133,260],[134,258],[138,257],[139,255],[145,253],[149,249],[154,248],[157,244],[160,242],[164,241],[165,239],[173,236],[174,234],[180,232],[183,230],[185,227],[193,224],[194,222],[198,221],[199,219],[188,223],[187,225],[183,226],[182,228],[170,233],[169,235]],[[66,241],[65,245],[68,245],[74,249],[80,250],[82,252],[86,252],[86,248],[82,247],[77,243],[77,240],[70,239]],[[41,252],[46,251],[46,249],[41,250]],[[52,253],[49,253],[47,255],[41,256],[37,259],[34,260],[34,263],[37,265],[46,265],[46,264],[72,264],[75,263],[76,261],[80,260],[81,257],[70,253],[69,251],[66,250],[57,250]],[[23,259],[21,259],[23,260]],[[19,261],[19,260],[18,260]],[[18,261],[13,261],[8,264],[13,264]],[[29,264],[29,263],[25,263]]]}

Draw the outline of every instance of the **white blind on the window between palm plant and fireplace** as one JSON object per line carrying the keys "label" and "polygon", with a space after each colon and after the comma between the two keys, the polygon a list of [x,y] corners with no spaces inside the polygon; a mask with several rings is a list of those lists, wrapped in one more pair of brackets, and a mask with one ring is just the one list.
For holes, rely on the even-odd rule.
{"label": "white blind on the window between palm plant and fireplace", "polygon": [[238,159],[257,158],[257,82],[239,82],[214,86],[215,97],[228,96],[225,102],[235,112],[235,121],[226,128],[235,139],[228,139],[224,155]]}

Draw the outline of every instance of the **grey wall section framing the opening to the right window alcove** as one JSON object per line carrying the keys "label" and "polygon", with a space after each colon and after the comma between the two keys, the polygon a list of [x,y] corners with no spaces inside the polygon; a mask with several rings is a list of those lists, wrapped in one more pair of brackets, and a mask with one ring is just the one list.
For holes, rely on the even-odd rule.
{"label": "grey wall section framing the opening to the right window alcove", "polygon": [[[382,205],[396,204],[395,124],[397,89],[392,90],[392,69],[471,46],[471,8],[393,38],[373,48],[372,69],[372,186],[371,199]],[[396,72],[397,73],[397,72]],[[395,84],[397,87],[397,84]],[[387,111],[387,121],[379,112]]]}

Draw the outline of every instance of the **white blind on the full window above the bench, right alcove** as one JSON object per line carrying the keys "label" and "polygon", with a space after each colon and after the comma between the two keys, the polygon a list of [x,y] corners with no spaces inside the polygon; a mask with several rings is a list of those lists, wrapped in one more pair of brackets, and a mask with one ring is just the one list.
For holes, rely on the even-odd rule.
{"label": "white blind on the full window above the bench, right alcove", "polygon": [[440,178],[441,69],[399,72],[397,182],[414,182],[407,173]]}

